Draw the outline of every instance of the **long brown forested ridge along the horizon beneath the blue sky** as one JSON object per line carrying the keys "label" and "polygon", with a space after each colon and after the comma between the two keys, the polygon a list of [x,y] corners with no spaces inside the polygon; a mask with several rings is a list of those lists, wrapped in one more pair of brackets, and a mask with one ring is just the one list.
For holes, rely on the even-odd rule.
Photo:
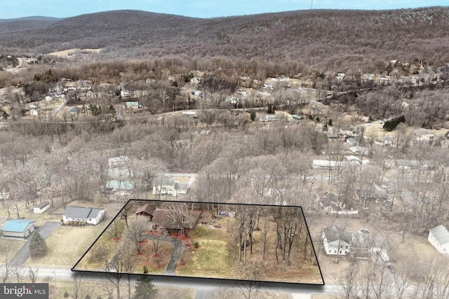
{"label": "long brown forested ridge along the horizon beneath the blue sky", "polygon": [[0,29],[1,46],[36,47],[42,53],[105,48],[103,59],[257,57],[290,71],[311,67],[347,74],[374,72],[385,60],[417,58],[434,65],[449,60],[445,7],[290,11],[213,19],[111,11],[45,22],[40,29]]}

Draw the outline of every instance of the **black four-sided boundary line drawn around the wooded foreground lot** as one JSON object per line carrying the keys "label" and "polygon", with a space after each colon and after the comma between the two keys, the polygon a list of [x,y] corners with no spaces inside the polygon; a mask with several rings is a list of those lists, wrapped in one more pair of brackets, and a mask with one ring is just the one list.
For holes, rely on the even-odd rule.
{"label": "black four-sided boundary line drawn around the wooded foreground lot", "polygon": [[[125,207],[130,202],[159,202],[159,203],[180,203],[180,204],[182,204],[182,203],[186,203],[186,204],[224,204],[224,205],[226,204],[226,205],[229,205],[229,206],[258,206],[258,207],[300,208],[301,214],[302,214],[302,218],[304,219],[304,223],[306,225],[307,235],[308,235],[308,237],[310,239],[310,244],[311,244],[311,247],[312,247],[312,249],[314,251],[316,265],[318,266],[318,269],[319,269],[319,272],[320,272],[320,276],[321,276],[321,281],[323,281],[323,284],[301,283],[301,282],[291,282],[291,281],[270,281],[270,280],[262,280],[262,281],[257,281],[257,282],[267,283],[267,284],[279,284],[279,285],[286,284],[286,285],[304,285],[304,286],[324,286],[326,284],[325,281],[324,281],[324,278],[323,278],[323,272],[321,272],[321,267],[320,267],[320,264],[319,264],[319,260],[318,260],[318,258],[316,258],[316,251],[315,251],[314,242],[312,242],[310,231],[309,231],[309,225],[307,225],[307,221],[306,221],[306,218],[304,217],[304,211],[303,211],[302,207],[300,207],[300,206],[279,206],[279,205],[270,205],[270,204],[236,204],[236,203],[228,203],[228,202],[189,202],[189,201],[173,201],[173,200],[140,200],[140,199],[128,200],[128,202],[126,202],[126,204],[123,205],[123,207],[116,214],[116,216],[112,219],[112,221],[107,225],[107,227],[95,239],[93,244],[91,244],[91,246],[89,246],[88,250],[83,254],[83,256],[81,256],[81,258],[79,258],[79,260],[76,262],[76,264],[72,267],[72,269],[71,269],[72,272],[85,272],[85,273],[98,273],[98,274],[145,275],[145,274],[133,273],[133,272],[130,272],[130,273],[128,273],[128,272],[104,272],[104,271],[76,270],[75,269],[76,266],[84,258],[84,256],[86,256],[86,254],[91,250],[93,245],[95,245],[95,243],[98,241],[98,239],[100,239],[100,237],[106,232],[106,230],[116,220],[116,218],[121,215],[121,211],[123,211],[123,209],[125,209]],[[177,278],[180,278],[180,279],[204,279],[204,280],[213,280],[213,281],[241,281],[241,282],[251,281],[249,279],[228,279],[228,278],[216,278],[216,277],[176,276],[176,275],[163,275],[163,274],[147,274],[147,275],[158,277],[158,278],[166,277],[166,278],[170,278],[170,279],[173,279],[173,277],[177,277]]]}

